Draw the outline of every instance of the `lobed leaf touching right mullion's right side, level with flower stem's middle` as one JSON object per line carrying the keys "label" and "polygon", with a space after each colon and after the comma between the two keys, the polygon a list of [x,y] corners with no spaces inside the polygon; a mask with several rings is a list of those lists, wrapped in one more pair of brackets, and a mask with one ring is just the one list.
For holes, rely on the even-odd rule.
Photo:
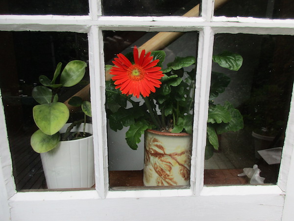
{"label": "lobed leaf touching right mullion's right side, level with flower stem's middle", "polygon": [[231,120],[231,114],[226,108],[221,105],[210,105],[208,108],[208,123],[221,122],[228,123]]}

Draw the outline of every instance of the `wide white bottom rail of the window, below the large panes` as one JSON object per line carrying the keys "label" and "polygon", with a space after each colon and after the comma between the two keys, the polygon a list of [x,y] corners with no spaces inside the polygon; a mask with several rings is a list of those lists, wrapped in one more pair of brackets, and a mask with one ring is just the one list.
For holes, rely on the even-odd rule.
{"label": "wide white bottom rail of the window, below the large panes", "polygon": [[[18,193],[19,194],[19,193]],[[142,197],[67,200],[11,200],[13,221],[278,221],[278,194],[198,197]]]}

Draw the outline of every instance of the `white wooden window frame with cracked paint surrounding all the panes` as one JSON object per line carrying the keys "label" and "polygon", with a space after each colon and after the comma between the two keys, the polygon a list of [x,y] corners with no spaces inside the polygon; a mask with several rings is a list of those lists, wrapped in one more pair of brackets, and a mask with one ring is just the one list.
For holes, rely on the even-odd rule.
{"label": "white wooden window frame with cracked paint surrounding all the panes", "polygon": [[[141,220],[168,220],[167,216],[175,220],[183,215],[187,219],[181,220],[189,220],[201,218],[203,214],[206,220],[218,217],[227,221],[242,216],[245,216],[245,220],[280,220],[282,215],[285,220],[291,220],[294,193],[290,189],[286,201],[285,193],[287,186],[294,185],[294,160],[291,157],[294,147],[293,101],[277,185],[204,187],[204,149],[214,34],[294,35],[294,19],[213,17],[213,5],[213,0],[202,0],[202,17],[192,18],[101,16],[100,0],[89,0],[90,14],[85,16],[0,15],[1,31],[70,31],[88,34],[96,169],[96,190],[16,192],[0,100],[0,190],[4,190],[0,192],[0,214],[3,220],[138,220],[141,217]],[[103,30],[199,31],[189,189],[109,191]],[[156,210],[159,204],[161,207]],[[56,212],[61,208],[62,212]],[[151,215],[148,213],[150,210]],[[144,217],[146,214],[148,217]]]}

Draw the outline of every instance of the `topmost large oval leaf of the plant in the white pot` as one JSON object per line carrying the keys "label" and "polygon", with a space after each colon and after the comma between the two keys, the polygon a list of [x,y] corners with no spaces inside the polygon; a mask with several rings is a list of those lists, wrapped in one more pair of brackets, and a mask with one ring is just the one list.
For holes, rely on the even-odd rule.
{"label": "topmost large oval leaf of the plant in the white pot", "polygon": [[81,60],[70,61],[63,69],[60,76],[60,83],[65,87],[71,87],[79,83],[86,72],[87,64]]}

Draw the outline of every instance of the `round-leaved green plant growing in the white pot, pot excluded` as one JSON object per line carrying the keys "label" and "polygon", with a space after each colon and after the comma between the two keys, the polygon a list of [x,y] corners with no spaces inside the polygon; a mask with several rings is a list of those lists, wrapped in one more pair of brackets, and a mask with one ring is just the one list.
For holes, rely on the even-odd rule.
{"label": "round-leaved green plant growing in the white pot, pot excluded", "polygon": [[[72,97],[69,104],[74,107],[81,107],[84,117],[74,121],[65,134],[61,136],[59,130],[64,127],[70,117],[69,108],[62,102],[59,102],[59,95],[63,87],[72,87],[80,83],[85,75],[87,64],[81,60],[70,61],[62,70],[62,63],[58,63],[53,74],[52,80],[47,76],[41,75],[39,81],[42,85],[35,86],[32,90],[33,98],[39,103],[33,107],[33,118],[39,128],[31,136],[31,146],[37,153],[48,152],[55,148],[61,140],[83,138],[86,133],[75,134],[73,136],[70,130],[84,122],[86,115],[91,116],[91,104],[83,101],[80,97]],[[60,74],[61,73],[61,74]],[[58,83],[56,81],[59,80]]]}

